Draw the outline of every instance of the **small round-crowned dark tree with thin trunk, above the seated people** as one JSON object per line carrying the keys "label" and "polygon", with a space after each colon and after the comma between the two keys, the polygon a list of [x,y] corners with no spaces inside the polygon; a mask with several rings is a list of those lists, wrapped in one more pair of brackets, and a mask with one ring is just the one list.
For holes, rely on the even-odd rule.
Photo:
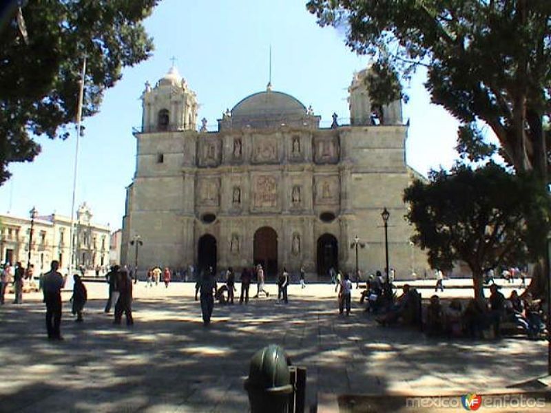
{"label": "small round-crowned dark tree with thin trunk, above the seated people", "polygon": [[484,297],[490,268],[516,266],[543,255],[540,240],[551,229],[551,202],[537,180],[508,173],[495,163],[479,169],[456,165],[433,171],[404,192],[413,241],[428,250],[434,268],[462,260],[472,271],[475,297]]}

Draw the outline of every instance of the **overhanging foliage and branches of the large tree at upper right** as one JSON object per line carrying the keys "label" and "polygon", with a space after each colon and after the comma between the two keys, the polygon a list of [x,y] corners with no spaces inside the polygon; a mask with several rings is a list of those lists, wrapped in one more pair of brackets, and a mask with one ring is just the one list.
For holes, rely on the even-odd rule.
{"label": "overhanging foliage and branches of the large tree at upper right", "polygon": [[353,50],[406,78],[426,66],[433,103],[464,125],[484,121],[514,169],[546,179],[551,1],[311,0],[306,7],[320,25],[344,26]]}

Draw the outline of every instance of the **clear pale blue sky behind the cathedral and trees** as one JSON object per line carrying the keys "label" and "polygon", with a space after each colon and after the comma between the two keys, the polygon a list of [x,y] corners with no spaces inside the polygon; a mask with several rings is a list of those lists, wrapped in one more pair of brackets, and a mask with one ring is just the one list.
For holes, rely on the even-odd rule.
{"label": "clear pale blue sky behind the cathedral and trees", "polygon": [[[307,12],[306,0],[163,0],[145,21],[155,50],[147,61],[123,71],[107,90],[101,112],[85,118],[79,142],[75,211],[86,202],[96,224],[121,228],[125,188],[136,167],[133,127],[141,126],[141,100],[146,81],[154,85],[172,65],[197,94],[198,120],[216,129],[222,112],[242,98],[266,89],[312,105],[331,124],[331,114],[349,117],[346,101],[353,73],[364,69],[368,56],[357,56],[344,44],[344,34],[320,28]],[[32,36],[32,34],[29,34]],[[410,97],[403,105],[409,119],[407,163],[426,175],[448,168],[457,153],[458,123],[441,107],[430,104],[424,73],[404,85]],[[200,125],[200,122],[198,122]],[[76,133],[63,140],[37,138],[42,152],[30,163],[11,164],[12,178],[0,187],[0,213],[27,217],[71,215]]]}

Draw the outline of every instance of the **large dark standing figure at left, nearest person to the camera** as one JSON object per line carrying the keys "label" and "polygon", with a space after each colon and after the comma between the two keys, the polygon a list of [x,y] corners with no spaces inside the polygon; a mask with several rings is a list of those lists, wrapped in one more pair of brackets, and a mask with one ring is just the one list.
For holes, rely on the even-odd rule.
{"label": "large dark standing figure at left, nearest person to the camera", "polygon": [[59,273],[59,262],[56,260],[50,264],[50,271],[44,274],[42,292],[46,304],[46,330],[48,339],[63,340],[61,337],[61,288],[65,281]]}

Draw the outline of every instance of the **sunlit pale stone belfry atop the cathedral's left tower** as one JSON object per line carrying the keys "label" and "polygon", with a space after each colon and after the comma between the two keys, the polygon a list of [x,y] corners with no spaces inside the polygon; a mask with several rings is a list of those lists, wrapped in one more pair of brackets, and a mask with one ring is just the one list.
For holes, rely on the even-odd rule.
{"label": "sunlit pale stone belfry atop the cathedral's left tower", "polygon": [[142,131],[164,132],[196,130],[197,98],[180,76],[176,66],[160,78],[155,87],[145,83],[141,96]]}

